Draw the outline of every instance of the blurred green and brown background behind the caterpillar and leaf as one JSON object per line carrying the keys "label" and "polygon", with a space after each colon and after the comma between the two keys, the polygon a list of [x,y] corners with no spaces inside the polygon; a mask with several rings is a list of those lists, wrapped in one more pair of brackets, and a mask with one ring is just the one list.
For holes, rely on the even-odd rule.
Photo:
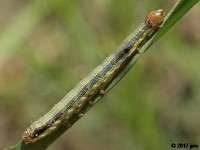
{"label": "blurred green and brown background behind the caterpillar and leaf", "polygon": [[[0,149],[174,1],[0,0]],[[49,150],[167,150],[200,143],[200,5]],[[199,145],[200,146],[200,145]]]}

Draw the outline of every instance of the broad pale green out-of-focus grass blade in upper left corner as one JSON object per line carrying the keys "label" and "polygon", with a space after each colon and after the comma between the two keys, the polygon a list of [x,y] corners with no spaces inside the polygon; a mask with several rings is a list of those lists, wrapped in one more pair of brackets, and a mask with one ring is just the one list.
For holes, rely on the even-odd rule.
{"label": "broad pale green out-of-focus grass blade in upper left corner", "polygon": [[[36,1],[19,12],[13,23],[4,29],[0,36],[0,65],[14,53],[20,44],[30,34],[32,29],[50,12],[53,8],[53,0]],[[49,7],[51,6],[51,7]]]}

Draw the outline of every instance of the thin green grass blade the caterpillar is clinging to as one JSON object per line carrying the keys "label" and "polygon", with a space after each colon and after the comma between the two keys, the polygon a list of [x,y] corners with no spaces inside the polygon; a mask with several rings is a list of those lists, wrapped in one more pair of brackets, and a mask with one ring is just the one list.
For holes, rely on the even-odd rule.
{"label": "thin green grass blade the caterpillar is clinging to", "polygon": [[[169,30],[183,15],[185,15],[189,9],[191,9],[199,0],[180,0],[177,2],[177,4],[172,8],[170,13],[166,16],[163,22],[163,28],[160,29],[156,37],[150,38],[146,42],[145,45],[142,46],[141,51],[144,52],[152,43],[157,41],[167,30]],[[109,85],[106,93],[109,92],[115,84],[119,82],[119,80],[122,79],[122,77],[130,70],[130,68],[135,64],[135,62],[138,60],[138,58],[142,54],[137,54],[133,58],[133,60],[124,68],[124,70],[112,81],[112,83]],[[95,102],[98,102],[101,99],[101,97],[97,97]],[[87,111],[87,108],[85,109]],[[74,118],[74,122],[76,122],[77,118]],[[13,147],[8,148],[9,150],[43,150],[46,149],[51,143],[53,143],[60,135],[62,135],[68,128],[65,126],[62,126],[58,130],[56,130],[51,135],[45,137],[42,140],[39,140],[33,144],[24,145],[22,141],[20,141],[18,144],[16,144]]]}

